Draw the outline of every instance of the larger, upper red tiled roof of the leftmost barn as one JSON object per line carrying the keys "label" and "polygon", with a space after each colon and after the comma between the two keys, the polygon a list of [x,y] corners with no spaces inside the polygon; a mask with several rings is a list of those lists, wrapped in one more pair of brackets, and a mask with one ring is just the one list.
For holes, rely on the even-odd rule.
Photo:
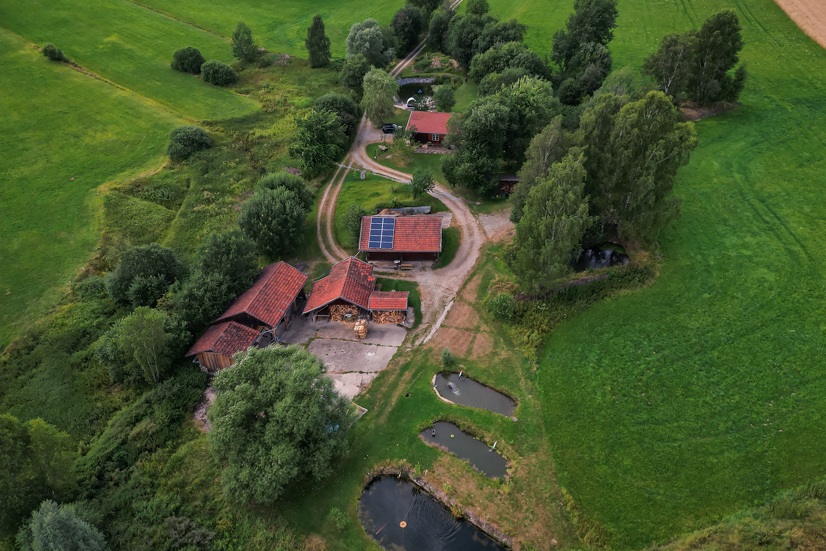
{"label": "larger, upper red tiled roof of the leftmost barn", "polygon": [[274,327],[296,299],[306,280],[306,275],[286,262],[270,264],[263,268],[253,286],[236,298],[216,321],[247,313]]}

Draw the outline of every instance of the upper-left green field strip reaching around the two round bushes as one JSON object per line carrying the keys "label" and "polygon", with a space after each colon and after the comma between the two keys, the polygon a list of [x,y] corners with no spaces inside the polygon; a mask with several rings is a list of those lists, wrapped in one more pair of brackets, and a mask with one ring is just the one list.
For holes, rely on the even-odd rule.
{"label": "upper-left green field strip reaching around the two round bushes", "polygon": [[171,67],[174,50],[192,45],[206,59],[230,62],[230,42],[126,0],[56,0],[0,5],[0,27],[43,45],[54,42],[70,59],[118,86],[195,119],[258,109]]}

